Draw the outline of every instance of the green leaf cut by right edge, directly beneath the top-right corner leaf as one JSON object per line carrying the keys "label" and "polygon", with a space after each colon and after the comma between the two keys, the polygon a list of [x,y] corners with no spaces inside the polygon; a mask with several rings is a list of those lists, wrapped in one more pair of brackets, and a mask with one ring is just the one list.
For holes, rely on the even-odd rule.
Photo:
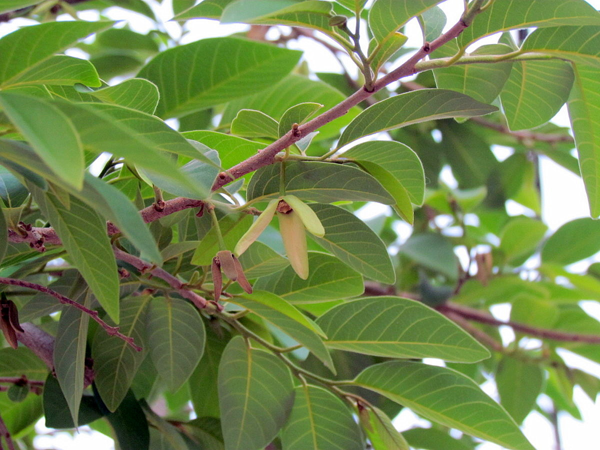
{"label": "green leaf cut by right edge, directly beneath the top-right corner leaf", "polygon": [[[543,9],[543,8],[542,8]],[[596,13],[600,22],[600,13]],[[595,26],[557,26],[532,32],[521,47],[525,52],[600,67],[600,30]]]}

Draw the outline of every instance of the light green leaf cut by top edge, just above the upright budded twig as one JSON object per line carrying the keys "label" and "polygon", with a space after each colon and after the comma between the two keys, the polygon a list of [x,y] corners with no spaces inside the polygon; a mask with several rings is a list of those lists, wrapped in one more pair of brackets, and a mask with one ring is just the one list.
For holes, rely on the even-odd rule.
{"label": "light green leaf cut by top edge, just above the upright budded twig", "polygon": [[369,10],[369,28],[382,42],[408,22],[441,0],[376,0]]}

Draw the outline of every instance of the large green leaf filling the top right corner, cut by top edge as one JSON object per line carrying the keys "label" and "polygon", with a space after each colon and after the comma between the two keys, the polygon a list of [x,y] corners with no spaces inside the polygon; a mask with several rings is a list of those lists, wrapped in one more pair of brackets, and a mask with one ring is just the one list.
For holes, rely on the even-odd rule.
{"label": "large green leaf filling the top right corner, cut by top edge", "polygon": [[[467,46],[481,37],[509,29],[558,25],[600,25],[598,11],[584,0],[495,0],[458,37]],[[568,34],[563,34],[563,38]]]}

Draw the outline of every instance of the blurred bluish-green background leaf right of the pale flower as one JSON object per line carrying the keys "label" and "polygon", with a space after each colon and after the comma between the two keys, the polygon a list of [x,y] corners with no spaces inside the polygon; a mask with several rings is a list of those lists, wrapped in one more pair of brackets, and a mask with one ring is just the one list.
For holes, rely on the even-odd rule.
{"label": "blurred bluish-green background leaf right of the pale flower", "polygon": [[446,275],[450,280],[458,277],[458,260],[454,247],[445,236],[436,233],[412,235],[400,246],[399,251],[415,262]]}

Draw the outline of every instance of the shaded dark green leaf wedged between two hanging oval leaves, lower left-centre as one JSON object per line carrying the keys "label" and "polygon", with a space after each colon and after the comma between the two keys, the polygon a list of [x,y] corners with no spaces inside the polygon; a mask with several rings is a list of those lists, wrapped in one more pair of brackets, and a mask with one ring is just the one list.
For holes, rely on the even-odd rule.
{"label": "shaded dark green leaf wedged between two hanging oval leaves, lower left-centre", "polygon": [[[227,344],[226,338],[228,338],[223,334],[225,333],[217,335],[208,328],[204,354],[190,376],[190,386],[193,386],[190,389],[191,402],[198,417],[219,416],[217,373],[221,355]],[[197,386],[202,386],[202,389],[198,389]]]}

